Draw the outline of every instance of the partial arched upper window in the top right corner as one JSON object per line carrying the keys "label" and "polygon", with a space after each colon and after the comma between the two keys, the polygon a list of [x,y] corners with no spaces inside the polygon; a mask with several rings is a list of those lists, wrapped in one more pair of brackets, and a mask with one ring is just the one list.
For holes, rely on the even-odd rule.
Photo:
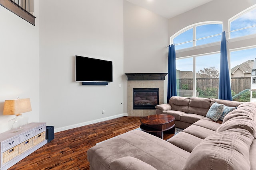
{"label": "partial arched upper window in the top right corner", "polygon": [[256,6],[252,6],[229,20],[230,38],[256,33]]}

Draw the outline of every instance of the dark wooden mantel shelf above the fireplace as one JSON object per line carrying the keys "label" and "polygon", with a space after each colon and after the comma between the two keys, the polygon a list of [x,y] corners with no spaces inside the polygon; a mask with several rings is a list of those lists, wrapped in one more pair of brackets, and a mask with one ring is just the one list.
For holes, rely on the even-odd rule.
{"label": "dark wooden mantel shelf above the fireplace", "polygon": [[168,73],[124,73],[127,80],[165,80]]}

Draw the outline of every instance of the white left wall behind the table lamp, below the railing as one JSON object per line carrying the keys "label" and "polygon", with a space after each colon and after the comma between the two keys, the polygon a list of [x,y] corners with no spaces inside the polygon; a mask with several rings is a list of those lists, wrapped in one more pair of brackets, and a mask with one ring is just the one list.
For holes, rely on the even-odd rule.
{"label": "white left wall behind the table lamp, below the railing", "polygon": [[36,26],[0,6],[0,133],[14,115],[2,115],[5,100],[30,98],[29,122],[39,121],[38,0],[34,0]]}

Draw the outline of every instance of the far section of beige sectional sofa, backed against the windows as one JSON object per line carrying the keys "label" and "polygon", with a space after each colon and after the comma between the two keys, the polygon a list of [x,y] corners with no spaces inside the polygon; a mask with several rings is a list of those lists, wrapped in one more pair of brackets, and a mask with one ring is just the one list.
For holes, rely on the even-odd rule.
{"label": "far section of beige sectional sofa, backed against the windows", "polygon": [[[215,102],[230,107],[236,107],[242,104],[242,102],[230,102],[228,100],[212,98],[173,96],[170,98],[168,104],[156,106],[156,114],[172,115],[175,117],[175,127],[186,129],[200,119],[212,121],[212,119],[206,118],[206,114]],[[217,122],[222,123],[222,121]]]}

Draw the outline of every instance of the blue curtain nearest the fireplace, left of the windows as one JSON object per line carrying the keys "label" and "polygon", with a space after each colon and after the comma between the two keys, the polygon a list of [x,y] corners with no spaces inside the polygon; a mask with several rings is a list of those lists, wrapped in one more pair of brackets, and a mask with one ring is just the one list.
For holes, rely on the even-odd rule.
{"label": "blue curtain nearest the fireplace, left of the windows", "polygon": [[176,53],[175,45],[169,45],[168,54],[168,87],[167,87],[167,103],[172,96],[177,96],[176,87]]}

